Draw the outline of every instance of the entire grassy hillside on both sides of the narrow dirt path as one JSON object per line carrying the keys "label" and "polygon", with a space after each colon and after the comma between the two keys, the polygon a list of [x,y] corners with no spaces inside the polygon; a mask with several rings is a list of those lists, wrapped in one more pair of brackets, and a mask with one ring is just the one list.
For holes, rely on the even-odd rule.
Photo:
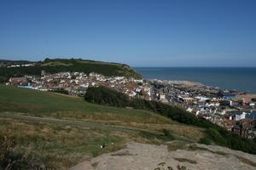
{"label": "entire grassy hillside on both sides of the narrow dirt path", "polygon": [[[20,121],[4,118],[1,112],[96,122],[99,126],[107,123],[137,130],[127,133],[73,126],[74,123]],[[177,139],[197,141],[203,136],[201,128],[172,122],[149,111],[93,105],[77,97],[0,85],[0,135],[15,136],[20,144],[16,150],[32,151],[49,167],[65,169],[91,156],[117,150],[129,141],[161,143],[165,139],[160,139],[159,134],[164,128]],[[107,144],[104,150],[99,148],[102,143]]]}

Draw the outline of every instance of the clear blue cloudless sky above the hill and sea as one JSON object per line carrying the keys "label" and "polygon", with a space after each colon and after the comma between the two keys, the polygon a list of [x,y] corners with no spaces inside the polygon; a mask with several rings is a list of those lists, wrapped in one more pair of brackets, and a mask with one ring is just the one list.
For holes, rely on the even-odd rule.
{"label": "clear blue cloudless sky above the hill and sea", "polygon": [[0,59],[256,66],[256,0],[0,0]]}

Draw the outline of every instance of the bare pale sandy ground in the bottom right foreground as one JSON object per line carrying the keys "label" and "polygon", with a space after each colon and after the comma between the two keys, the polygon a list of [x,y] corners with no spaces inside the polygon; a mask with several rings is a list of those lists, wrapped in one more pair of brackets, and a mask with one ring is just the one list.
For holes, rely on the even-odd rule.
{"label": "bare pale sandy ground in the bottom right foreground", "polygon": [[204,144],[184,144],[176,150],[177,145],[173,149],[170,144],[127,144],[125,149],[84,161],[71,170],[176,170],[177,165],[187,170],[256,169],[256,156],[241,151]]}

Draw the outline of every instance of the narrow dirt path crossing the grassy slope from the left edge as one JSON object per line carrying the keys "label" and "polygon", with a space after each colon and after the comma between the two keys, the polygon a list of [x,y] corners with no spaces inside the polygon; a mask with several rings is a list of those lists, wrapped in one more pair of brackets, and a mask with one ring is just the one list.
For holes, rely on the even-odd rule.
{"label": "narrow dirt path crossing the grassy slope from the left edge", "polygon": [[15,113],[9,113],[9,112],[0,112],[0,118],[1,117],[11,118],[19,121],[24,121],[24,122],[59,123],[59,124],[68,125],[68,126],[96,128],[100,130],[121,131],[125,133],[135,132],[138,130],[136,128],[113,126],[113,125],[107,125],[107,124],[97,123],[97,122],[82,122],[82,121],[55,119],[50,117],[24,116],[24,115],[18,115]]}

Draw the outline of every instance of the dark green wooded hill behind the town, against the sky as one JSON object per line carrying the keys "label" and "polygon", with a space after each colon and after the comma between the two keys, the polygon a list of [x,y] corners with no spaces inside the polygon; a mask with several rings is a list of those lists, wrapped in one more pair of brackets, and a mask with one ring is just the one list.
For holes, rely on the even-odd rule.
{"label": "dark green wooded hill behind the town, against the sky", "polygon": [[[26,64],[30,65],[27,66]],[[134,71],[129,65],[119,63],[89,59],[44,59],[44,61],[36,62],[0,59],[0,82],[6,81],[9,77],[40,75],[42,70],[51,74],[61,71],[82,71],[87,74],[96,72],[106,77],[121,76],[141,78],[141,75]]]}

